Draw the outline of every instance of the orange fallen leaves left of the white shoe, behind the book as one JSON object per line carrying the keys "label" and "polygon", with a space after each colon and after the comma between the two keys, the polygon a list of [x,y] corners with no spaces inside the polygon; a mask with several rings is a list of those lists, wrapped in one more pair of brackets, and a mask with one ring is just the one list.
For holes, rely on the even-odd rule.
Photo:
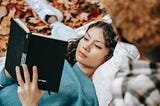
{"label": "orange fallen leaves left of the white shoe, behind the book", "polygon": [[[6,55],[11,17],[21,19],[30,30],[39,31],[42,21],[24,0],[0,1],[0,57]],[[43,26],[45,24],[43,23]]]}

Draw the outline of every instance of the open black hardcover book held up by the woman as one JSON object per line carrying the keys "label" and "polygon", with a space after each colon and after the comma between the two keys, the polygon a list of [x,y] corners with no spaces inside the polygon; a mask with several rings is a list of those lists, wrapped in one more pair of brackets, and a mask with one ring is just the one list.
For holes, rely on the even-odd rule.
{"label": "open black hardcover book held up by the woman", "polygon": [[27,64],[32,78],[32,66],[36,65],[39,89],[58,92],[67,46],[67,41],[32,33],[19,19],[11,18],[5,68],[17,80],[16,66]]}

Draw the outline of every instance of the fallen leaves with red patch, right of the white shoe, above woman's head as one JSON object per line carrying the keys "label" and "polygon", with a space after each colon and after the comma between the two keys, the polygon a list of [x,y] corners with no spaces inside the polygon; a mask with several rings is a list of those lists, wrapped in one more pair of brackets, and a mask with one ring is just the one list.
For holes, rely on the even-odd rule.
{"label": "fallen leaves with red patch, right of the white shoe, above woman's head", "polygon": [[106,14],[106,9],[100,2],[90,2],[91,0],[60,1],[54,0],[51,4],[63,12],[63,22],[72,28],[85,25],[97,17],[103,17]]}

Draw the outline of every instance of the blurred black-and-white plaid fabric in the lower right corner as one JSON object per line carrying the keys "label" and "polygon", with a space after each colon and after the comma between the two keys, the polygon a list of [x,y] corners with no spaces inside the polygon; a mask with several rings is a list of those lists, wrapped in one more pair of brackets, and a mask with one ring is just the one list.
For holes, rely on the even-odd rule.
{"label": "blurred black-and-white plaid fabric in the lower right corner", "polygon": [[160,63],[132,61],[113,81],[114,106],[159,106]]}

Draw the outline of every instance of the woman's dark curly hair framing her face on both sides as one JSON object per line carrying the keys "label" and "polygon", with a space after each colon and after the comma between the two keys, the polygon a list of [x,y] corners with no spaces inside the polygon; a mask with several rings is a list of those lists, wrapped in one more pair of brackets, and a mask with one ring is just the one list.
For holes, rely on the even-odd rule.
{"label": "woman's dark curly hair framing her face on both sides", "polygon": [[[114,49],[116,47],[117,44],[117,35],[113,30],[113,27],[111,24],[108,24],[106,22],[103,21],[99,21],[96,23],[91,24],[88,29],[86,30],[86,32],[90,29],[90,28],[101,28],[103,29],[103,37],[105,40],[105,46],[107,48],[109,48],[109,54],[106,57],[106,60],[110,59],[113,56],[113,52]],[[68,45],[68,50],[67,50],[67,60],[70,62],[71,65],[73,65],[76,62],[75,59],[75,52],[76,52],[76,48],[78,46],[79,41],[83,38],[83,36],[79,39],[75,39],[69,42]]]}

